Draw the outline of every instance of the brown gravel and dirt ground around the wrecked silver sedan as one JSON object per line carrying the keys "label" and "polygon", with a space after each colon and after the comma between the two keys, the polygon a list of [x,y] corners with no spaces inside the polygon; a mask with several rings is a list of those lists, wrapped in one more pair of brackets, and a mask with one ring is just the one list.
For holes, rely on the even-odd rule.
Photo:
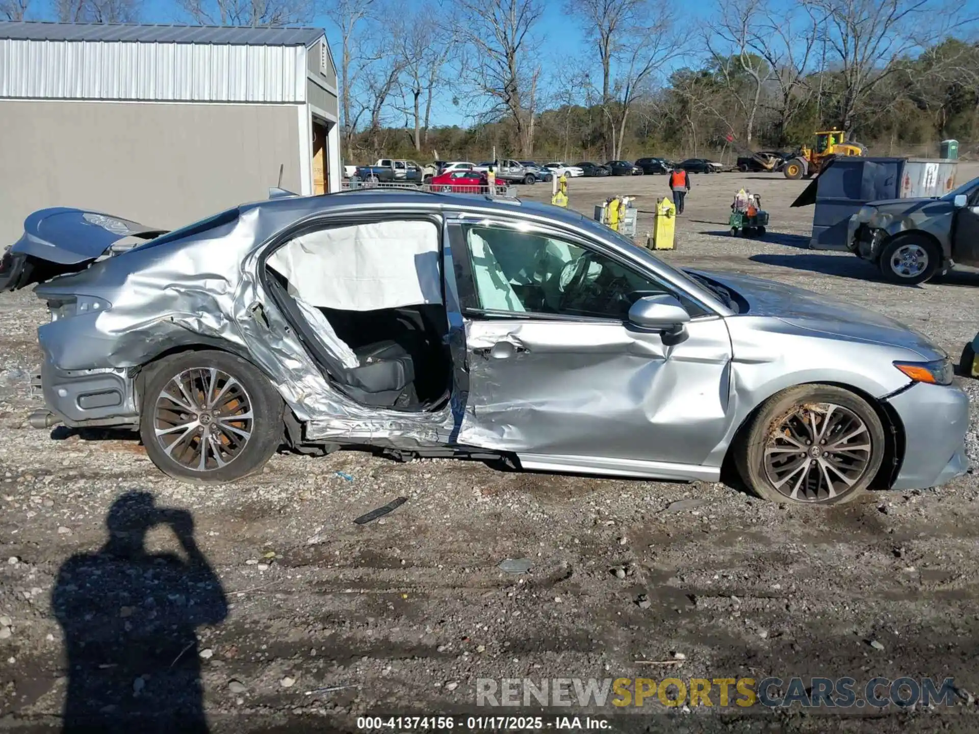
{"label": "brown gravel and dirt ground around the wrecked silver sedan", "polygon": [[[807,250],[812,209],[788,206],[805,182],[732,173],[693,183],[669,261],[875,308],[956,358],[979,330],[979,277],[898,287],[853,255]],[[770,212],[765,240],[727,234],[741,186]],[[635,195],[640,233],[666,193],[663,176],[570,186],[571,205],[588,214],[607,196]],[[521,194],[543,200],[549,187]],[[162,707],[191,716],[203,695],[214,732],[355,730],[365,713],[500,713],[476,709],[477,678],[672,674],[953,676],[961,698],[952,708],[872,713],[722,709],[716,700],[692,711],[591,712],[614,713],[620,730],[979,729],[967,693],[979,694],[976,474],[825,511],[723,483],[396,463],[353,450],[279,454],[248,481],[191,486],[165,478],[128,436],[27,426],[38,406],[28,386],[39,361],[35,328],[45,319],[29,292],[0,296],[0,728],[60,728],[67,696],[104,696],[93,711],[112,719]],[[979,383],[968,382],[975,464]],[[84,554],[106,543],[107,515],[126,492],[188,511],[193,529],[128,528],[120,537],[145,530],[151,552],[171,555],[83,573],[94,563]],[[383,519],[352,523],[397,497],[407,502]],[[694,501],[667,509],[681,499]],[[497,568],[515,558],[530,559],[530,573]],[[56,586],[56,601],[73,610],[60,615],[64,630]],[[641,594],[648,604],[637,603]],[[105,686],[121,691],[116,699],[70,691],[63,635],[76,662],[114,661],[100,669]],[[322,690],[335,686],[350,687]]]}

